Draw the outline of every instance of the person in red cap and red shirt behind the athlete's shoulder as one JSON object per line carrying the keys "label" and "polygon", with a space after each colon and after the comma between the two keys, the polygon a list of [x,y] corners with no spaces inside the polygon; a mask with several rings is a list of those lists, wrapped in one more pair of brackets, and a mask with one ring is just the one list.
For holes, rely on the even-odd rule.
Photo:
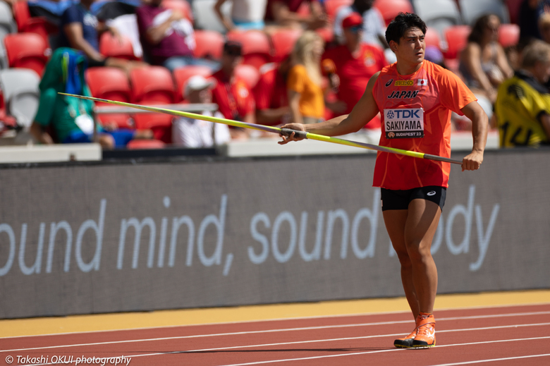
{"label": "person in red cap and red shirt behind the athlete's shoulder", "polygon": [[[369,79],[388,65],[384,51],[361,42],[362,17],[351,13],[342,21],[343,35],[346,42],[341,46],[329,49],[322,59],[325,74],[336,73],[340,87],[336,96],[345,104],[343,114],[350,114],[353,106],[359,102]],[[370,129],[380,129],[380,118],[375,117],[367,125]]]}

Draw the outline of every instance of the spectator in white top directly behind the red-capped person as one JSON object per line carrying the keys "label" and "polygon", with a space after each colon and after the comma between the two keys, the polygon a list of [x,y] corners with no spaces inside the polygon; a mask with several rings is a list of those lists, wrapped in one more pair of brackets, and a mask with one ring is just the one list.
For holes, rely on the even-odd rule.
{"label": "spectator in white top directly behind the red-capped person", "polygon": [[338,9],[334,17],[334,37],[336,37],[339,43],[346,43],[346,37],[343,35],[342,21],[350,13],[357,12],[363,17],[362,41],[389,49],[388,42],[386,42],[386,23],[384,23],[381,13],[373,5],[374,0],[355,0],[350,6],[342,6]]}

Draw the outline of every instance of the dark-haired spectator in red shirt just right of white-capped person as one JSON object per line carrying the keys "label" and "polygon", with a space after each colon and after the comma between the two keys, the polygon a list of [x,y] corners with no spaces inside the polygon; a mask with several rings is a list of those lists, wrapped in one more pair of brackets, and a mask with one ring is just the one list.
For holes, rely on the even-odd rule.
{"label": "dark-haired spectator in red shirt just right of white-capped person", "polygon": [[[221,54],[221,68],[212,75],[216,86],[212,101],[219,106],[225,118],[234,121],[255,123],[255,102],[245,80],[235,75],[236,67],[243,62],[243,45],[227,41]],[[230,128],[231,138],[247,138],[247,130]]]}

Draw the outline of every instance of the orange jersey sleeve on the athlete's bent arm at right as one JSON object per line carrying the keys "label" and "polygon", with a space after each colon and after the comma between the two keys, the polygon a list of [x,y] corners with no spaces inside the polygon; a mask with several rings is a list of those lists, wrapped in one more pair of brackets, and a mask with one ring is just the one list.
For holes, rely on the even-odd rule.
{"label": "orange jersey sleeve on the athlete's bent arm at right", "polygon": [[474,93],[451,71],[441,71],[438,79],[441,104],[456,114],[463,116],[464,114],[460,109],[471,102],[477,101]]}

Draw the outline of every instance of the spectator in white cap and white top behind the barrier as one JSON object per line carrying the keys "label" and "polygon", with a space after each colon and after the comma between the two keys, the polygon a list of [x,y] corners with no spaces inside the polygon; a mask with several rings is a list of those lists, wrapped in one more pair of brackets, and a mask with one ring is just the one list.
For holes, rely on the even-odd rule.
{"label": "spectator in white cap and white top behind the barrier", "polygon": [[[183,87],[183,97],[187,102],[193,104],[212,103],[212,88],[216,82],[201,75],[194,75]],[[202,111],[203,116],[224,118],[219,111]],[[212,123],[200,119],[179,117],[172,125],[173,145],[183,147],[212,147],[213,145],[224,145],[231,136],[226,125]],[[215,142],[215,143],[214,143]]]}

